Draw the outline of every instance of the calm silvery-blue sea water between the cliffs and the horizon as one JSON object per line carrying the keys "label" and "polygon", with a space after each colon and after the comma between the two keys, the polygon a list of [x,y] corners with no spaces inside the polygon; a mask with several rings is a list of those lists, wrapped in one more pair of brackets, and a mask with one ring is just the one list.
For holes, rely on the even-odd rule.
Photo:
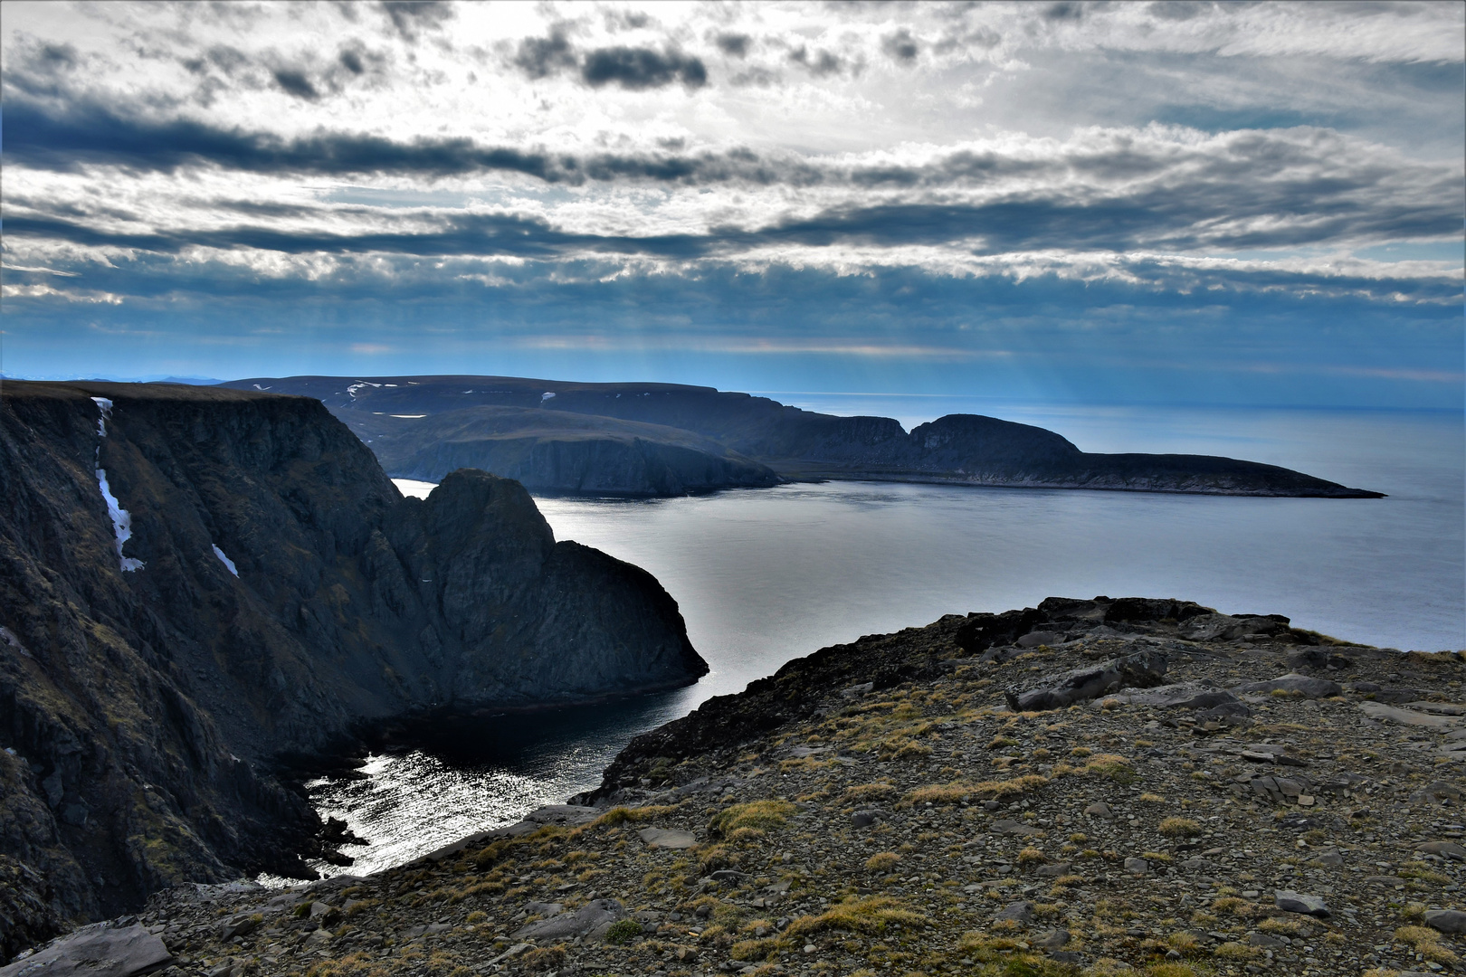
{"label": "calm silvery-blue sea water between the cliffs and the horizon", "polygon": [[[992,406],[776,394],[907,426],[953,410],[1058,431],[1091,451],[1226,454],[1384,499],[1264,499],[831,482],[674,499],[541,498],[557,539],[639,564],[712,666],[693,687],[487,719],[314,785],[408,861],[594,787],[626,741],[818,647],[1045,596],[1173,596],[1399,649],[1466,647],[1466,431],[1459,413]],[[425,491],[430,486],[418,486]]]}

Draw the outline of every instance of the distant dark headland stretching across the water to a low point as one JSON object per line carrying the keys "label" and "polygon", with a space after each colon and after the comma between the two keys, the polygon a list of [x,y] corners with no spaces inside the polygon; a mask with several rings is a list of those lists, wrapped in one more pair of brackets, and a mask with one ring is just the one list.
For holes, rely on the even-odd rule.
{"label": "distant dark headland stretching across the water to a low point", "polygon": [[476,467],[537,492],[686,495],[786,480],[1381,498],[1302,472],[1201,454],[1095,454],[1053,431],[947,415],[907,432],[680,384],[520,376],[259,376],[223,387],[314,397],[393,478]]}

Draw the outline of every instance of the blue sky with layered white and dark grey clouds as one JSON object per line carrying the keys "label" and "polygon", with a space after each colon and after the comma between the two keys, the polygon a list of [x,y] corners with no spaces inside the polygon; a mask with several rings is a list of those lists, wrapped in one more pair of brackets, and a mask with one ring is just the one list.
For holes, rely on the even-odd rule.
{"label": "blue sky with layered white and dark grey clouds", "polygon": [[0,25],[7,376],[1462,407],[1466,4]]}

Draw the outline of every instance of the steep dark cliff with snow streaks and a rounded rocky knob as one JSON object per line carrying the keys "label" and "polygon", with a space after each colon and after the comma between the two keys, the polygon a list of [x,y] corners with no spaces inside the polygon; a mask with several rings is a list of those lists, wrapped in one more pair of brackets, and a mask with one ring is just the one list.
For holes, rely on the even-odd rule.
{"label": "steep dark cliff with snow streaks and a rounded rocky knob", "polygon": [[[299,873],[321,825],[274,760],[364,722],[707,671],[661,586],[556,542],[523,486],[454,472],[403,499],[314,400],[3,394],[0,866],[45,879],[32,895],[60,917]],[[130,517],[120,548],[98,469]]]}

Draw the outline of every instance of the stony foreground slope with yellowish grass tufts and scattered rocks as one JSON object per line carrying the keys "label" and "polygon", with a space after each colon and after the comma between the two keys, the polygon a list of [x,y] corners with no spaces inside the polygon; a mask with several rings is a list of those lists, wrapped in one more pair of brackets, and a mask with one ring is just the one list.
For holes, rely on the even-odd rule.
{"label": "stony foreground slope with yellowish grass tufts and scattered rocks", "polygon": [[117,977],[1454,973],[1463,677],[1174,601],[951,615],[705,703],[579,804],[69,939],[126,940]]}

